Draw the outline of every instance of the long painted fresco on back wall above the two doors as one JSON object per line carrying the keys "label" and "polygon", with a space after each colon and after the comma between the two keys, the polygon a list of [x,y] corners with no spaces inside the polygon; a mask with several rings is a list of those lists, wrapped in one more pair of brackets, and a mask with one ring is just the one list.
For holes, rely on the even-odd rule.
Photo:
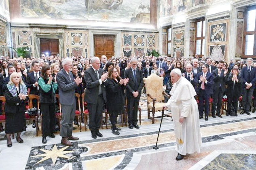
{"label": "long painted fresco on back wall above the two doors", "polygon": [[21,0],[23,17],[150,23],[150,0]]}

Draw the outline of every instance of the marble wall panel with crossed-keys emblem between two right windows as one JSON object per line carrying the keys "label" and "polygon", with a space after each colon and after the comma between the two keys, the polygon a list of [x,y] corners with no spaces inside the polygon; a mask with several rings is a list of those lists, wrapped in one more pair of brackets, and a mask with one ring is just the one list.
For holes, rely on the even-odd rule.
{"label": "marble wall panel with crossed-keys emblem between two right windows", "polygon": [[207,23],[207,45],[205,56],[211,56],[214,60],[226,60],[228,57],[230,19],[216,19]]}

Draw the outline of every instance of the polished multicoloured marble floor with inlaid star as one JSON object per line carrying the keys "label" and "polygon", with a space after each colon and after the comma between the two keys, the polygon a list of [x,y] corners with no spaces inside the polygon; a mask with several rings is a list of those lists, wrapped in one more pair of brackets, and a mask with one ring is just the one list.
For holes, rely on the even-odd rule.
{"label": "polished multicoloured marble floor with inlaid star", "polygon": [[103,137],[93,139],[84,124],[82,132],[74,125],[73,135],[79,141],[73,142],[72,147],[61,145],[58,133],[55,138],[47,137],[47,144],[42,144],[42,136],[36,137],[32,124],[28,124],[27,131],[21,135],[24,143],[13,139],[13,147],[8,148],[2,132],[0,170],[256,170],[256,113],[201,119],[201,153],[176,161],[171,118],[163,118],[159,149],[153,149],[161,119],[151,124],[143,100],[142,97],[140,129],[124,126],[116,136],[110,126],[109,129],[103,126],[100,129]]}

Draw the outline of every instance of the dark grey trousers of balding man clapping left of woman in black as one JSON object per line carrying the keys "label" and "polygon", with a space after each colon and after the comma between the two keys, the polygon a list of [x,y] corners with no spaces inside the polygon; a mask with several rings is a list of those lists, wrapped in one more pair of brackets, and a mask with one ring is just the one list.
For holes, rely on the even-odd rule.
{"label": "dark grey trousers of balding man clapping left of woman in black", "polygon": [[89,128],[91,133],[99,131],[101,121],[102,121],[102,111],[104,107],[103,95],[99,95],[97,104],[87,103],[87,108],[89,111]]}

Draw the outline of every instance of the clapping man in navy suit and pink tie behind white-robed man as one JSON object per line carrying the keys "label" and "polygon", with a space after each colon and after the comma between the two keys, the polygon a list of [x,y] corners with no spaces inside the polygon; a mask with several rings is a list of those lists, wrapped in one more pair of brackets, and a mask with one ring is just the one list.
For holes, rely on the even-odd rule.
{"label": "clapping man in navy suit and pink tie behind white-robed man", "polygon": [[213,76],[212,73],[208,72],[208,65],[202,65],[201,73],[198,73],[197,77],[199,79],[198,84],[198,95],[199,95],[199,118],[203,118],[203,101],[205,101],[205,120],[208,120],[209,115],[209,99],[212,95],[213,87]]}

